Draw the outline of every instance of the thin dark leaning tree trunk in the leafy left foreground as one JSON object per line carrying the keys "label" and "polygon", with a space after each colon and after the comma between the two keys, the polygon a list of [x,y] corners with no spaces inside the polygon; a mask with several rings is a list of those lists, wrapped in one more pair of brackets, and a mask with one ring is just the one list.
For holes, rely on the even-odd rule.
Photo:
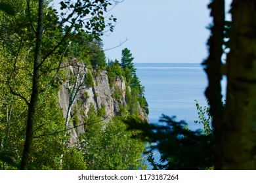
{"label": "thin dark leaning tree trunk in the leafy left foreground", "polygon": [[35,56],[33,63],[33,86],[30,97],[30,103],[28,105],[28,120],[26,127],[26,139],[24,144],[24,150],[22,154],[22,161],[20,169],[28,168],[28,161],[31,152],[32,140],[33,140],[33,123],[35,120],[35,108],[39,95],[39,65],[41,63],[41,42],[43,37],[43,0],[39,0],[38,4],[38,22],[37,33],[35,42]]}

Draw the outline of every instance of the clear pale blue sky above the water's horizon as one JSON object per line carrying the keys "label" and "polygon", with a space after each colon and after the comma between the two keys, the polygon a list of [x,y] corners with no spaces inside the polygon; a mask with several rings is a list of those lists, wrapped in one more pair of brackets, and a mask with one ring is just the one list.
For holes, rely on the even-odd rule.
{"label": "clear pale blue sky above the water's horizon", "polygon": [[[230,5],[227,1],[227,6]],[[124,0],[109,13],[113,33],[102,37],[107,59],[121,59],[128,48],[135,63],[202,63],[211,23],[207,0]]]}

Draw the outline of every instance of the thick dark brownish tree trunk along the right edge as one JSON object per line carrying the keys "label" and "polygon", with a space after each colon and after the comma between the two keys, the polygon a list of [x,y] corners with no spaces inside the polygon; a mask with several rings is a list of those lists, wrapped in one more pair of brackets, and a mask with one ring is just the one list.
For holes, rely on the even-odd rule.
{"label": "thick dark brownish tree trunk along the right edge", "polygon": [[256,1],[234,0],[223,169],[256,169]]}

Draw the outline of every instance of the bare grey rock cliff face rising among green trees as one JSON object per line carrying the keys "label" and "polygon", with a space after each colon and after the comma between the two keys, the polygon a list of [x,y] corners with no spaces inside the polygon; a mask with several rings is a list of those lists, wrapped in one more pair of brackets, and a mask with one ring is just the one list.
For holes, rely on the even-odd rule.
{"label": "bare grey rock cliff face rising among green trees", "polygon": [[[71,75],[75,75],[75,71],[77,68],[70,67],[72,71]],[[77,95],[73,102],[71,108],[71,116],[74,116],[74,106],[77,106],[77,114],[79,118],[78,127],[72,129],[72,138],[71,143],[74,143],[79,137],[80,133],[84,133],[84,125],[83,120],[87,118],[87,112],[91,105],[95,107],[95,110],[99,110],[100,108],[105,110],[105,114],[102,117],[102,120],[108,122],[112,117],[119,115],[120,107],[125,107],[127,105],[125,101],[125,95],[127,90],[131,90],[131,88],[126,87],[125,80],[123,77],[116,77],[114,80],[113,86],[110,87],[107,71],[95,69],[87,69],[83,66],[81,69],[83,75],[87,75],[87,73],[93,73],[93,86],[89,86],[88,84],[83,84],[77,91]],[[81,74],[81,75],[82,75]],[[81,81],[80,76],[80,81]],[[68,81],[64,82],[60,88],[59,92],[59,103],[60,107],[63,110],[64,118],[67,118],[68,108],[70,107],[70,90],[66,87]],[[144,109],[139,107],[139,116],[148,122],[148,115],[144,111]],[[70,120],[71,121],[71,120]],[[71,122],[68,124],[68,128],[74,127],[74,124]]]}

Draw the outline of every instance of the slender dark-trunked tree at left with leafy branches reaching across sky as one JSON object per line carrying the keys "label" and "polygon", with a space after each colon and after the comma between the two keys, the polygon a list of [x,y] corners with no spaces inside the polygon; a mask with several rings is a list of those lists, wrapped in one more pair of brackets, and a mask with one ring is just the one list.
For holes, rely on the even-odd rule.
{"label": "slender dark-trunked tree at left with leafy branches reaching across sky", "polygon": [[[112,31],[112,21],[116,21],[116,18],[113,18],[113,16],[110,16],[108,20],[106,20],[106,17],[104,16],[104,12],[106,12],[107,7],[111,5],[110,1],[79,0],[75,3],[70,1],[61,1],[60,9],[70,11],[60,12],[60,16],[57,16],[56,10],[52,9],[52,16],[50,19],[48,19],[47,17],[49,11],[47,12],[47,10],[51,10],[51,8],[48,6],[49,2],[50,1],[43,0],[27,1],[27,3],[25,3],[26,14],[24,14],[23,17],[20,16],[20,18],[22,22],[26,23],[24,24],[25,28],[29,29],[29,31],[16,32],[16,35],[20,36],[20,46],[17,47],[22,48],[22,36],[24,36],[24,38],[26,38],[31,45],[28,48],[28,52],[31,52],[31,48],[33,50],[33,59],[30,58],[30,61],[32,61],[31,63],[33,64],[30,97],[17,93],[16,90],[14,90],[14,88],[10,85],[12,94],[21,97],[28,105],[26,140],[24,143],[24,150],[20,165],[21,169],[28,168],[28,160],[30,158],[30,153],[32,152],[35,112],[39,95],[40,93],[45,92],[53,84],[56,76],[58,75],[62,61],[61,55],[64,52],[62,46],[64,45],[65,41],[72,35],[71,33],[79,34],[80,32],[92,34],[95,39],[98,39],[106,27],[110,27],[110,31]],[[22,1],[22,3],[24,3],[24,1]],[[36,14],[34,14],[35,12]],[[91,18],[88,18],[88,16]],[[12,19],[10,16],[7,16],[7,19],[8,18]],[[110,21],[109,24],[106,23],[107,21]],[[17,25],[18,24],[14,24],[13,26]],[[14,30],[17,29],[18,27],[15,27]],[[23,35],[21,36],[22,33]],[[49,37],[57,37],[57,39],[49,39]],[[54,67],[56,68],[56,65],[51,63],[51,56],[56,56],[58,52],[62,54],[60,54],[57,69],[54,69]],[[20,49],[18,49],[14,55],[16,55],[16,59],[14,60],[14,69],[12,73],[16,71],[16,61],[20,56]],[[49,80],[44,80],[43,75],[45,73],[51,73],[50,75],[52,78]],[[10,84],[11,80],[13,80],[13,78],[9,79]]]}

